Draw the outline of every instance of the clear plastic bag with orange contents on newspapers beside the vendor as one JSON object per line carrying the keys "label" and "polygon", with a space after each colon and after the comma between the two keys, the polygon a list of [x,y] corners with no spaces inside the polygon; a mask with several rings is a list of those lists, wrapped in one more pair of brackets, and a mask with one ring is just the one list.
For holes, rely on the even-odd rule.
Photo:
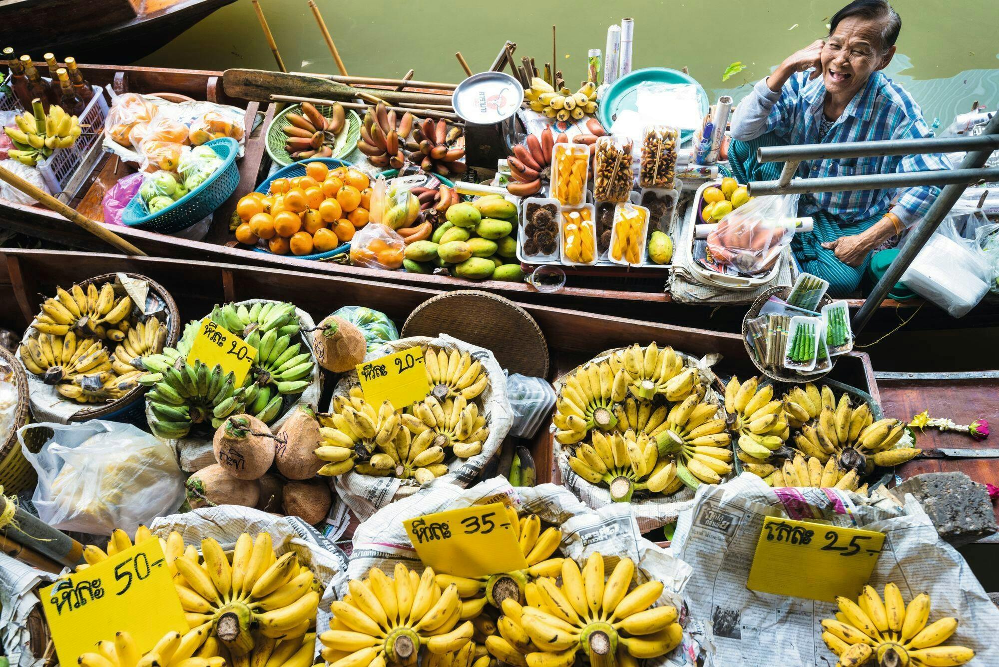
{"label": "clear plastic bag with orange contents on newspapers beside the vendor", "polygon": [[797,195],[750,200],[718,222],[707,236],[707,247],[742,274],[766,271],[794,237],[797,204]]}

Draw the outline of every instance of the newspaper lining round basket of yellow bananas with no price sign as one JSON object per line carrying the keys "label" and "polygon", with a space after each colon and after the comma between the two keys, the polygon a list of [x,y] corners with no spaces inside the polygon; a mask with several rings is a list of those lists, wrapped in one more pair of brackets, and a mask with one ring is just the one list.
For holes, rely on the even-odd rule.
{"label": "newspaper lining round basket of yellow bananas with no price sign", "polygon": [[[624,348],[618,347],[600,352],[586,363],[599,363],[618,349]],[[679,350],[677,350],[677,353],[683,357],[686,365],[696,367],[699,370],[701,381],[705,382],[708,387],[710,387],[715,378],[714,371],[711,369],[711,366],[721,359],[721,355],[708,354],[707,356],[698,359],[690,354],[680,352]],[[578,366],[576,368],[572,368],[567,373],[552,382],[556,393],[561,391],[564,378],[570,373],[574,373],[577,368]],[[711,402],[718,403],[720,405],[721,399],[713,388],[708,388],[706,398]],[[549,430],[551,433],[554,433],[555,426],[553,423],[549,426]],[[603,486],[597,486],[589,483],[577,475],[575,471],[569,467],[568,459],[574,451],[574,445],[561,445],[554,442],[554,447],[555,462],[558,465],[558,471],[561,474],[562,483],[565,484],[565,486],[567,486],[572,493],[576,495],[576,497],[593,509],[599,509],[600,507],[604,507],[606,505],[615,504],[614,501],[610,499],[610,491],[608,489]],[[684,485],[680,487],[680,490],[672,495],[646,494],[640,498],[632,498],[631,507],[634,512],[635,520],[638,522],[638,527],[642,532],[648,532],[675,521],[679,513],[690,507],[692,503],[693,490]]]}

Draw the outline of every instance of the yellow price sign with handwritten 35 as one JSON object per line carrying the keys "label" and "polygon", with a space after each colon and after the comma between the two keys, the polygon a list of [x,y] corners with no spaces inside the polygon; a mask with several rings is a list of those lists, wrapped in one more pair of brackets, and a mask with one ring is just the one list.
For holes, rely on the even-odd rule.
{"label": "yellow price sign with handwritten 35", "polygon": [[420,560],[436,572],[481,577],[527,567],[501,502],[425,514],[403,525]]}

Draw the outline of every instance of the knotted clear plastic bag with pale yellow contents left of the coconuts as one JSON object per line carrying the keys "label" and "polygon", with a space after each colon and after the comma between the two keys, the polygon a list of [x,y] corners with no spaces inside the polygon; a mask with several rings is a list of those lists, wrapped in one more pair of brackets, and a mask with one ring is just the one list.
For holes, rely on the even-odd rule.
{"label": "knotted clear plastic bag with pale yellow contents left of the coconuts", "polygon": [[[24,433],[39,427],[54,433],[35,453]],[[18,439],[38,473],[31,500],[39,518],[56,528],[95,535],[122,528],[131,535],[184,501],[184,474],[173,448],[132,424],[29,424]]]}

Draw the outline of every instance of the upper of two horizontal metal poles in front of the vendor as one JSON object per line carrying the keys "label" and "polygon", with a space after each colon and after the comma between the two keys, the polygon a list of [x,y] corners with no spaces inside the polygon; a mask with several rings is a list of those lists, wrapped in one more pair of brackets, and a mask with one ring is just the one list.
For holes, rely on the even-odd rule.
{"label": "upper of two horizontal metal poles in front of the vendor", "polygon": [[825,160],[829,158],[866,158],[876,155],[918,155],[920,153],[954,153],[957,151],[995,151],[999,137],[932,137],[929,139],[888,139],[857,141],[843,144],[803,144],[800,146],[767,146],[756,149],[759,162],[787,160]]}

